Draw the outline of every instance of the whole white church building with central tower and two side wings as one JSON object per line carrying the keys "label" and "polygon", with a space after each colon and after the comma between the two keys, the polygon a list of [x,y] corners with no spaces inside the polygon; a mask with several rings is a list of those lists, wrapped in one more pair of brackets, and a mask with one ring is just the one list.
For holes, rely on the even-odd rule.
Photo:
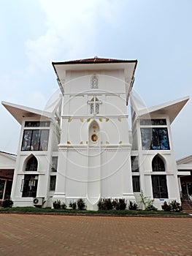
{"label": "whole white church building with central tower and two side wings", "polygon": [[97,210],[100,198],[139,203],[141,192],[159,209],[180,202],[180,176],[190,172],[177,170],[171,124],[189,98],[147,108],[132,93],[136,67],[98,57],[53,62],[60,94],[45,110],[2,102],[21,126],[14,206],[82,198]]}

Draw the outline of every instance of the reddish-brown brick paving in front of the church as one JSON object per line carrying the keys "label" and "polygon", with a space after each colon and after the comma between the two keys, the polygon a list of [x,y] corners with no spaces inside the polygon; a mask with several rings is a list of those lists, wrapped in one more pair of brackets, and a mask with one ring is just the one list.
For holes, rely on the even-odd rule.
{"label": "reddish-brown brick paving in front of the church", "polygon": [[192,219],[1,214],[0,255],[192,255]]}

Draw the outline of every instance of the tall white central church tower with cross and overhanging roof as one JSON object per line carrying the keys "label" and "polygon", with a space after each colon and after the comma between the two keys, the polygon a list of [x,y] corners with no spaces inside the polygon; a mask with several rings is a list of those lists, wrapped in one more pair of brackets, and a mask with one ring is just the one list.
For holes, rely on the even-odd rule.
{"label": "tall white central church tower with cross and overhanging roof", "polygon": [[63,94],[54,200],[134,200],[127,104],[137,61],[82,59],[53,63]]}

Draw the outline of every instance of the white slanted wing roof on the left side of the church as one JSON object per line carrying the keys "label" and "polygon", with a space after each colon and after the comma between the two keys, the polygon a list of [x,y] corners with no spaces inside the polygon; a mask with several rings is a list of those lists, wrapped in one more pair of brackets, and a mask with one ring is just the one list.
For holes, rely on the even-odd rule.
{"label": "white slanted wing roof on the left side of the church", "polygon": [[7,108],[9,113],[18,121],[19,124],[22,124],[24,117],[37,117],[41,118],[42,116],[46,118],[51,118],[52,113],[47,111],[38,110],[36,108],[28,108],[26,106],[17,105],[9,102],[1,102],[4,105],[4,108]]}

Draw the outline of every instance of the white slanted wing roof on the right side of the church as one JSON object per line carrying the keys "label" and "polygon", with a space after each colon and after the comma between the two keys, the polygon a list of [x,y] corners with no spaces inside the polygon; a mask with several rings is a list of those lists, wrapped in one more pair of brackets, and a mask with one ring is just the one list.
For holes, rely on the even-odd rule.
{"label": "white slanted wing roof on the right side of the church", "polygon": [[156,105],[151,108],[145,108],[137,112],[139,117],[145,118],[149,115],[168,115],[170,123],[174,121],[174,118],[180,113],[180,110],[188,102],[189,97],[183,97],[181,99],[175,99],[172,102],[166,102],[161,105]]}

